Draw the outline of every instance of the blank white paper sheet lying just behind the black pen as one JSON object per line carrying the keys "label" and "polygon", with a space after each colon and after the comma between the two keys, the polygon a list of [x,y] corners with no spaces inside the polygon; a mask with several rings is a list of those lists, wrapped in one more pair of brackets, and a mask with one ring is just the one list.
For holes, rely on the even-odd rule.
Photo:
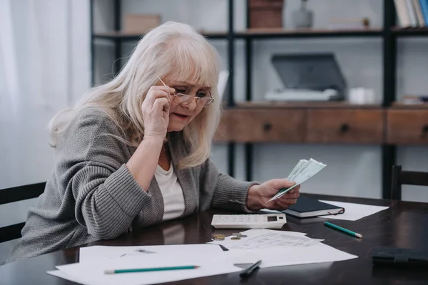
{"label": "blank white paper sheet lying just behind the black pen", "polygon": [[327,244],[317,243],[310,247],[271,247],[251,251],[234,250],[224,252],[225,260],[234,264],[254,263],[262,260],[261,268],[312,264],[320,262],[355,259],[356,255],[342,252]]}

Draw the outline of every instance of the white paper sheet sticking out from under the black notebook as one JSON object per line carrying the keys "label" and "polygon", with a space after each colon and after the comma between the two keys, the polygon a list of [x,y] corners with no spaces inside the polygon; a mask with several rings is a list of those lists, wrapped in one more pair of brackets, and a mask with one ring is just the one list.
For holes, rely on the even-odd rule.
{"label": "white paper sheet sticking out from under the black notebook", "polygon": [[370,216],[371,214],[375,214],[377,212],[383,211],[384,209],[388,209],[388,207],[372,206],[367,204],[355,204],[355,203],[326,201],[326,200],[320,200],[320,202],[345,208],[345,213],[343,214],[321,216],[322,218],[325,218],[325,219],[345,219],[347,221],[356,221],[357,219],[362,219],[363,217],[367,217],[367,216]]}

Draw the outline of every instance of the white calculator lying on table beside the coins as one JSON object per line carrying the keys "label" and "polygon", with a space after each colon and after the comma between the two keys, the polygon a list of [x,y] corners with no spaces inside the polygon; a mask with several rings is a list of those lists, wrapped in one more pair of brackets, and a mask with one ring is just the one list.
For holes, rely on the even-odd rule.
{"label": "white calculator lying on table beside the coins", "polygon": [[216,229],[280,229],[286,222],[285,214],[215,214],[211,225]]}

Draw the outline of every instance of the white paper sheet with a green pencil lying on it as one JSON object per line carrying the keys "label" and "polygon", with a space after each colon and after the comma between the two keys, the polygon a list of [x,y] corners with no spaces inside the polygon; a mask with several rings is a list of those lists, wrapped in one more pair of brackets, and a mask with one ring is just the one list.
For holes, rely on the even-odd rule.
{"label": "white paper sheet with a green pencil lying on it", "polygon": [[[184,265],[197,265],[200,267],[198,269],[104,274],[104,270],[106,269],[152,268]],[[183,256],[177,254],[148,254],[146,255],[146,258],[127,257],[125,259],[107,259],[104,261],[98,260],[92,264],[76,263],[56,266],[56,268],[66,274],[61,277],[67,279],[67,276],[69,276],[87,285],[158,284],[203,276],[227,274],[242,270],[237,266],[233,266],[231,262],[225,261],[225,259],[213,259],[206,254],[188,254]]]}

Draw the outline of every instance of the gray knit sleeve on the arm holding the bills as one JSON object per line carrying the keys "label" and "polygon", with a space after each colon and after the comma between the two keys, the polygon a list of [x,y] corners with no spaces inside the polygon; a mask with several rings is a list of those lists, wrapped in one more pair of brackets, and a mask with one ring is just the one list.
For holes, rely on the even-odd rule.
{"label": "gray knit sleeve on the arm holding the bills", "polygon": [[200,169],[200,208],[252,212],[247,208],[248,190],[258,182],[244,182],[218,171],[208,159]]}

